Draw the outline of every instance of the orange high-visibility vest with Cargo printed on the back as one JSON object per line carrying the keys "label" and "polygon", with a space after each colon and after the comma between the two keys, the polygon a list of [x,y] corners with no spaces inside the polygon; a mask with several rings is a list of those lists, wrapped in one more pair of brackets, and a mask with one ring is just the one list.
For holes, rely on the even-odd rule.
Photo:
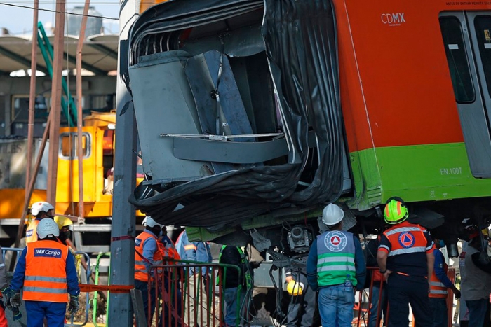
{"label": "orange high-visibility vest with Cargo printed on the back", "polygon": [[23,300],[68,302],[68,246],[55,241],[27,244]]}

